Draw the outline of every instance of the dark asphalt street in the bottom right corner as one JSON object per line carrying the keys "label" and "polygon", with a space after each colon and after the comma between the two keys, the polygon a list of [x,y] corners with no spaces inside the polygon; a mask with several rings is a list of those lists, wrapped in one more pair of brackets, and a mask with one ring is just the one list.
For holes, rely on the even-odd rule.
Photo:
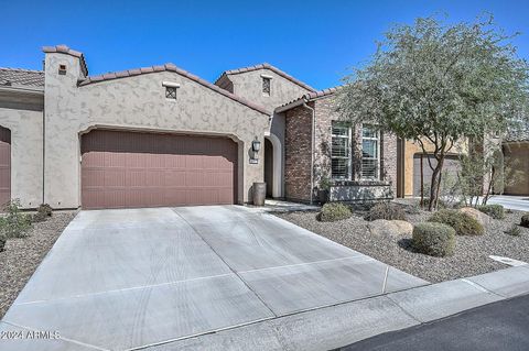
{"label": "dark asphalt street in the bottom right corner", "polygon": [[529,295],[376,336],[338,350],[527,351],[529,350]]}

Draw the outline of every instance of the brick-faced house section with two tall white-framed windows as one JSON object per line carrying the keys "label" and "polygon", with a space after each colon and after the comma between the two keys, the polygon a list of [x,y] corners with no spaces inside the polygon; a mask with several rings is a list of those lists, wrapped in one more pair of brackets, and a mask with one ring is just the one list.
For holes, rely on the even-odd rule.
{"label": "brick-faced house section with two tall white-framed windows", "polygon": [[342,121],[338,90],[309,92],[276,109],[285,120],[284,197],[311,201],[320,180],[328,178],[331,200],[391,199],[397,138]]}

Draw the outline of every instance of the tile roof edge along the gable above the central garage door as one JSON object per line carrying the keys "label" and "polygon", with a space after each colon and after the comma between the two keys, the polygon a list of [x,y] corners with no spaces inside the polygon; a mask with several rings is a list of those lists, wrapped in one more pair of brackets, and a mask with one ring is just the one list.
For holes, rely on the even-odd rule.
{"label": "tile roof edge along the gable above the central garage door", "polygon": [[186,78],[188,78],[193,81],[196,81],[196,83],[198,83],[199,85],[202,85],[206,88],[215,90],[216,92],[222,94],[225,97],[227,97],[227,98],[229,98],[234,101],[242,103],[242,105],[249,107],[252,110],[256,110],[256,111],[261,112],[261,113],[267,114],[267,116],[271,114],[271,111],[268,111],[263,107],[261,107],[257,103],[253,103],[253,102],[251,102],[251,101],[249,101],[245,98],[238,97],[238,96],[236,96],[236,95],[234,95],[234,94],[231,94],[231,92],[229,92],[229,91],[227,91],[223,88],[219,88],[216,85],[213,85],[209,81],[204,80],[198,76],[195,76],[195,75],[193,75],[193,74],[191,74],[191,73],[188,73],[184,69],[181,69],[181,68],[176,67],[174,64],[171,64],[171,63],[165,64],[165,65],[160,65],[160,66],[151,66],[151,67],[136,68],[136,69],[128,69],[128,70],[121,70],[121,72],[107,73],[107,74],[98,75],[98,76],[90,76],[90,77],[86,77],[85,79],[79,80],[78,85],[79,86],[86,86],[86,85],[89,85],[89,84],[95,84],[95,83],[99,83],[99,81],[104,81],[104,80],[112,80],[112,79],[139,76],[139,75],[143,75],[143,74],[149,74],[149,73],[154,73],[154,72],[164,72],[164,70],[177,73],[179,75],[184,76],[184,77],[186,77]]}

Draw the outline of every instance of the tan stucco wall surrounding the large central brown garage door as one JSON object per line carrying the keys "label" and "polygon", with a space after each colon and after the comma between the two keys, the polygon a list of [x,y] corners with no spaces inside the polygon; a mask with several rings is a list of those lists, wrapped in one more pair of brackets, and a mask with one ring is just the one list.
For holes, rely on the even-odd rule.
{"label": "tan stucco wall surrounding the large central brown garage door", "polygon": [[[66,76],[56,74],[60,64],[68,66]],[[80,206],[79,133],[94,127],[228,135],[239,142],[239,201],[262,182],[262,154],[249,164],[249,150],[256,136],[263,144],[268,116],[173,72],[77,87],[77,58],[47,54],[45,65],[45,199],[52,207]],[[165,98],[164,80],[180,84],[176,100]]]}

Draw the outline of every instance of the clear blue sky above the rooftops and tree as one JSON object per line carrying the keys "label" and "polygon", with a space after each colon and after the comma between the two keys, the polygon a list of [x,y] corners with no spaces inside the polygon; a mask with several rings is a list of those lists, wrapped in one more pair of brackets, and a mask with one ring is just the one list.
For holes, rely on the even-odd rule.
{"label": "clear blue sky above the rooftops and tree", "polygon": [[0,67],[42,69],[42,46],[84,53],[90,75],[174,63],[206,80],[269,63],[324,89],[369,59],[391,25],[494,14],[529,59],[529,0],[0,0]]}

